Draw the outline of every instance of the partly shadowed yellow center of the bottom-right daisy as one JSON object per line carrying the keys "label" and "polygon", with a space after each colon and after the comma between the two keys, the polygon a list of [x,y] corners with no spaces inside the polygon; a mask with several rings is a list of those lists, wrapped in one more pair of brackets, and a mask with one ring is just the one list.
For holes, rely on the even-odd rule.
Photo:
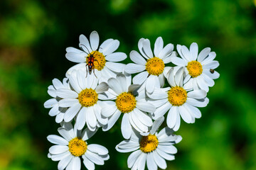
{"label": "partly shadowed yellow center of the bottom-right daisy", "polygon": [[143,136],[142,140],[139,142],[139,149],[144,153],[152,152],[158,146],[159,142],[156,135]]}

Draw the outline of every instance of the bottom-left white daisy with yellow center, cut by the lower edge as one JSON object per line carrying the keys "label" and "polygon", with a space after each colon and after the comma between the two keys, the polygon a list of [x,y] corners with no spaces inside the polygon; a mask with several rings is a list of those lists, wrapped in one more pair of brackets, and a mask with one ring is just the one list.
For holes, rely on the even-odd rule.
{"label": "bottom-left white daisy with yellow center, cut by the lower edge", "polygon": [[80,170],[81,160],[87,169],[95,169],[95,164],[103,165],[110,159],[107,148],[97,144],[87,144],[87,140],[95,134],[86,128],[83,131],[73,128],[71,123],[58,128],[58,135],[48,135],[47,140],[55,145],[50,147],[48,157],[58,162],[58,170]]}

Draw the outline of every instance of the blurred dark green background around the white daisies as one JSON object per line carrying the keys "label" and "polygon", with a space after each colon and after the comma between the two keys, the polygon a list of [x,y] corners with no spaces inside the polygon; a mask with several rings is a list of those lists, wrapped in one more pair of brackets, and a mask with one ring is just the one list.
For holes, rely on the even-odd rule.
{"label": "blurred dark green background around the white daisies", "polygon": [[[63,79],[75,63],[65,48],[78,47],[80,34],[120,41],[118,51],[138,50],[139,38],[164,45],[210,47],[220,62],[220,78],[210,103],[195,124],[176,132],[176,160],[167,169],[256,169],[256,1],[100,0],[0,1],[0,169],[57,169],[48,159],[58,135],[55,118],[43,103],[53,78]],[[252,76],[252,77],[251,77]],[[127,157],[114,147],[123,140],[120,122],[88,141],[104,145],[110,160],[97,169],[127,169]],[[83,167],[82,169],[85,169]]]}

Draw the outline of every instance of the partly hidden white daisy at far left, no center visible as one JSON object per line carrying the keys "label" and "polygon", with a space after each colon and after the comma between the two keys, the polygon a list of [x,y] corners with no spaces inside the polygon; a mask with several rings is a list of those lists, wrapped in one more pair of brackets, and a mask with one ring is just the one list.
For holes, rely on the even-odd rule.
{"label": "partly hidden white daisy at far left, no center visible", "polygon": [[46,101],[43,106],[45,108],[51,108],[49,111],[50,116],[56,116],[55,121],[56,123],[60,123],[63,121],[65,111],[67,111],[67,108],[61,108],[58,104],[58,101],[60,101],[62,98],[56,95],[57,89],[70,89],[70,86],[68,84],[68,79],[64,78],[63,82],[61,82],[58,79],[53,79],[53,85],[48,86],[48,94],[52,96],[53,98],[50,98],[48,101]]}

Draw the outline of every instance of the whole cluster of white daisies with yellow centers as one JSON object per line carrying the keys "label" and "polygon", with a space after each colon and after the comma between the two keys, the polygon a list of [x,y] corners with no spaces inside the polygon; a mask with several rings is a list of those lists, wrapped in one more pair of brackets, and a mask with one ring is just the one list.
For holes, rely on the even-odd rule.
{"label": "whole cluster of white daisies with yellow centers", "polygon": [[[80,50],[68,47],[65,55],[78,64],[68,69],[63,81],[53,79],[48,87],[52,98],[44,106],[60,123],[62,136],[47,137],[55,144],[48,157],[59,161],[60,170],[81,169],[80,157],[87,169],[103,165],[110,158],[107,148],[89,145],[87,140],[99,128],[110,130],[122,115],[125,140],[116,149],[132,152],[128,167],[166,169],[166,160],[174,160],[177,152],[174,144],[182,139],[174,135],[181,118],[195,123],[201,118],[198,108],[209,102],[209,87],[219,77],[215,52],[206,47],[198,54],[198,45],[193,42],[189,49],[177,45],[177,53],[173,44],[164,46],[161,37],[152,51],[150,41],[141,38],[139,52],[129,54],[134,63],[124,64],[121,62],[127,55],[115,52],[118,40],[107,39],[99,46],[100,37],[93,31],[89,40],[80,35],[79,41]],[[167,126],[158,132],[164,121]]]}

